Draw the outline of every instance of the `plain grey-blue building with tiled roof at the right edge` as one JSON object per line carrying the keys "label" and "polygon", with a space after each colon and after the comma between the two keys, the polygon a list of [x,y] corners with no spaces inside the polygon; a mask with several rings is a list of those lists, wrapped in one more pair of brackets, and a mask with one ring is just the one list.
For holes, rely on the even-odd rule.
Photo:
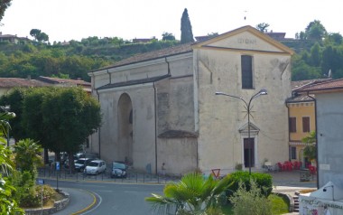
{"label": "plain grey-blue building with tiled roof at the right edge", "polygon": [[343,79],[311,85],[299,92],[315,95],[319,187],[333,182],[343,189]]}

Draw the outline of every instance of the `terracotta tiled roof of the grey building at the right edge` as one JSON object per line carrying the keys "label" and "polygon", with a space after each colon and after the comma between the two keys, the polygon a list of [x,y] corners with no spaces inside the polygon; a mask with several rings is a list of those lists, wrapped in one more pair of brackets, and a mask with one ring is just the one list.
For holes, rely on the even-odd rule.
{"label": "terracotta tiled roof of the grey building at the right edge", "polygon": [[299,92],[314,92],[314,91],[332,91],[339,90],[343,91],[343,79],[332,79],[317,84],[312,84],[308,87],[301,88]]}

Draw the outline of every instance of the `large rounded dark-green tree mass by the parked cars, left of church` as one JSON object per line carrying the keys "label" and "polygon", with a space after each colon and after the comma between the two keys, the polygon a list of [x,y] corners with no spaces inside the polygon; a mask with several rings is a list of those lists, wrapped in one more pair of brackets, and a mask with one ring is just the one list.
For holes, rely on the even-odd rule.
{"label": "large rounded dark-green tree mass by the parked cars, left of church", "polygon": [[[28,136],[56,154],[79,152],[100,124],[100,105],[81,88],[32,89],[23,100],[23,127]],[[60,161],[60,156],[56,159]]]}

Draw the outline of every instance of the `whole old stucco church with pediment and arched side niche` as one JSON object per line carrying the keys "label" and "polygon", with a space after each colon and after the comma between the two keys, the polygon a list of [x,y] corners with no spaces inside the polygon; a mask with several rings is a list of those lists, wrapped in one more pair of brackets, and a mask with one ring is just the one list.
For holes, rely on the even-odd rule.
{"label": "whole old stucco church with pediment and arched side niche", "polygon": [[[180,174],[229,173],[239,164],[259,171],[265,160],[285,161],[292,53],[244,26],[92,70],[104,122],[89,151],[148,173],[159,173],[163,163],[166,173]],[[253,101],[250,125],[242,100],[215,95],[224,91],[248,100],[260,89],[268,95]]]}

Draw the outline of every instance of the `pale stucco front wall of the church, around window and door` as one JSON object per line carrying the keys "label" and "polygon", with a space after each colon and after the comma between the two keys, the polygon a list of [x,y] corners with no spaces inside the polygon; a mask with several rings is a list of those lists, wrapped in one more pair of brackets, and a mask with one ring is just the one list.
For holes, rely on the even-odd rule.
{"label": "pale stucco front wall of the church, around window and door", "polygon": [[[253,40],[256,40],[254,50],[260,48],[260,43],[264,46],[258,38]],[[255,89],[241,87],[242,54],[254,58]],[[199,168],[205,172],[213,168],[230,172],[236,164],[243,163],[243,138],[247,136],[238,129],[247,123],[245,104],[237,98],[215,96],[216,91],[248,102],[260,89],[267,89],[268,95],[255,98],[251,106],[251,122],[260,129],[255,137],[255,169],[261,168],[265,158],[272,164],[287,160],[288,114],[284,101],[291,96],[290,55],[199,49],[195,56],[199,60],[199,69],[195,70],[199,79]]]}

